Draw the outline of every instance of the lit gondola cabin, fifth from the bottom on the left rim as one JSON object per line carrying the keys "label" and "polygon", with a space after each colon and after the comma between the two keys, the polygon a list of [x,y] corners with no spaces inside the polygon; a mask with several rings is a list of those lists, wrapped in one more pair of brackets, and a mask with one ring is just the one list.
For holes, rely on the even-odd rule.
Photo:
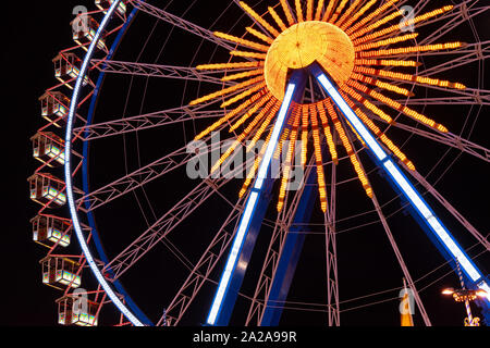
{"label": "lit gondola cabin, fifth from the bottom on the left rim", "polygon": [[38,132],[30,138],[33,157],[48,166],[64,164],[64,140],[51,132]]}

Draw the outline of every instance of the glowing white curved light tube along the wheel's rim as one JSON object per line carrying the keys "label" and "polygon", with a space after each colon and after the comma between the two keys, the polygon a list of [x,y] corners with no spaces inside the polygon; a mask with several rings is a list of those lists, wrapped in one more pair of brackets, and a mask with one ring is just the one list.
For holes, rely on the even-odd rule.
{"label": "glowing white curved light tube along the wheel's rim", "polygon": [[97,266],[94,257],[90,253],[90,250],[88,248],[88,245],[85,240],[84,234],[82,232],[82,226],[78,221],[78,215],[76,212],[75,207],[75,199],[73,197],[73,183],[72,183],[72,170],[71,170],[71,148],[72,148],[72,130],[73,130],[73,122],[75,119],[75,112],[78,103],[78,94],[79,89],[83,85],[84,77],[88,70],[88,64],[90,62],[91,55],[94,53],[94,49],[97,46],[97,42],[103,32],[103,29],[107,26],[107,23],[109,22],[110,17],[112,16],[115,8],[119,5],[121,0],[117,0],[112,3],[112,5],[107,11],[107,14],[105,15],[102,22],[100,23],[99,28],[97,29],[97,33],[91,40],[87,53],[85,55],[84,62],[82,64],[78,77],[76,79],[75,87],[73,89],[72,100],[70,103],[70,112],[68,116],[68,123],[66,123],[66,134],[65,134],[65,150],[64,150],[64,157],[65,157],[65,164],[64,164],[64,177],[66,182],[66,197],[68,197],[68,204],[70,208],[70,213],[72,215],[73,221],[73,228],[75,231],[76,237],[78,238],[82,251],[84,252],[85,259],[87,260],[88,265],[91,269],[91,272],[96,276],[97,281],[99,282],[100,286],[103,288],[106,294],[111,299],[112,303],[118,307],[118,309],[121,311],[121,313],[124,314],[124,316],[127,318],[127,320],[135,326],[144,326],[144,324],[130,311],[130,309],[119,299],[118,295],[112,290],[109,283],[103,277],[102,273],[100,272],[99,268]]}

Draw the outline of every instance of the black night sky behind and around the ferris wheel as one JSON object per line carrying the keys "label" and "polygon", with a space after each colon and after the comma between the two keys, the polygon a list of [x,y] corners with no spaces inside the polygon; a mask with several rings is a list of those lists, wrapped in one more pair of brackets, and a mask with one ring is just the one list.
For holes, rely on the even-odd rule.
{"label": "black night sky behind and around the ferris wheel", "polygon": [[[163,3],[164,1],[160,1]],[[192,1],[174,1],[169,5],[169,11],[181,15]],[[213,1],[213,7],[197,4],[185,14],[185,18],[195,22],[204,27],[208,27],[215,18],[226,8],[224,1]],[[206,2],[206,1],[205,1]],[[249,1],[250,4],[260,1]],[[273,1],[272,1],[273,2]],[[441,1],[433,7],[439,7]],[[446,1],[451,3],[450,0]],[[483,2],[483,1],[482,1]],[[208,2],[206,2],[208,3]],[[3,149],[8,153],[2,166],[2,172],[7,173],[3,188],[7,189],[3,196],[2,211],[3,234],[2,234],[2,298],[4,303],[0,324],[1,325],[56,325],[57,308],[54,300],[60,296],[57,290],[41,284],[41,272],[38,261],[46,256],[46,250],[32,241],[32,227],[29,220],[35,216],[38,206],[28,199],[28,186],[26,178],[37,167],[38,163],[32,158],[32,146],[29,137],[42,125],[40,117],[40,105],[37,98],[44,91],[56,84],[51,59],[61,49],[69,47],[71,41],[72,9],[77,4],[95,8],[93,1],[44,1],[29,3],[29,20],[19,21],[15,16],[8,16],[8,26],[2,33],[7,45],[1,51],[2,66],[7,72],[7,80],[2,88],[3,120],[7,126],[3,128]],[[9,2],[8,7],[13,7]],[[258,4],[257,9],[265,11],[264,4]],[[10,11],[10,10],[9,10]],[[259,12],[260,12],[259,11]],[[221,17],[212,29],[228,32],[238,22],[232,33],[242,35],[245,25],[249,25],[247,18],[241,17],[242,13],[236,7],[232,7],[226,12],[226,16]],[[238,18],[238,20],[235,20]],[[200,46],[200,40],[189,38],[175,29],[171,32],[168,25],[156,25],[155,18],[148,15],[138,15],[126,34],[117,60],[135,60],[145,44],[148,33],[155,29],[148,39],[147,48],[140,54],[142,62],[173,64],[173,65],[196,65],[226,61],[226,52],[213,51],[213,46],[205,42]],[[243,25],[242,25],[243,24]],[[489,39],[489,23],[483,23],[482,18],[475,21],[476,28],[481,41]],[[5,25],[5,22],[2,23]],[[421,36],[431,28],[421,30]],[[427,30],[427,32],[425,32]],[[170,36],[169,36],[170,35]],[[170,37],[162,49],[163,44]],[[462,39],[463,38],[463,39]],[[452,40],[474,41],[474,38],[466,26],[461,32],[446,35],[442,41]],[[433,61],[428,60],[429,64]],[[488,65],[488,64],[487,64]],[[488,66],[486,66],[488,72]],[[477,66],[469,65],[462,70],[446,71],[441,78],[458,80],[467,86],[475,86],[477,80]],[[489,77],[490,78],[490,77]],[[489,89],[490,79],[485,82],[485,89]],[[130,85],[132,86],[130,88]],[[147,82],[145,78],[135,78],[131,82],[128,77],[110,76],[106,79],[100,101],[96,111],[96,122],[113,119],[117,115],[136,115],[138,113],[152,112],[170,107],[179,107],[187,103],[198,95],[212,91],[213,86],[197,86],[196,84],[184,85],[174,80]],[[183,96],[183,90],[185,90]],[[130,91],[130,94],[128,94]],[[425,92],[420,89],[419,92]],[[430,94],[430,91],[429,91]],[[126,96],[130,96],[126,103]],[[7,107],[7,108],[5,108]],[[467,107],[428,107],[425,113],[438,122],[446,125],[451,132],[458,134],[468,114]],[[479,119],[471,134],[471,141],[489,147],[488,128],[488,107],[481,110]],[[468,117],[468,122],[475,121],[475,110]],[[403,116],[402,119],[403,120]],[[405,120],[404,120],[405,121]],[[4,123],[5,124],[5,123]],[[134,171],[139,163],[149,163],[162,156],[186,144],[199,129],[208,123],[196,123],[182,126],[156,128],[142,133],[139,137],[128,135],[118,139],[97,140],[90,148],[90,185],[100,187],[124,174],[125,171]],[[436,162],[442,158],[440,164],[433,169],[429,176],[429,182],[437,181],[436,188],[452,202],[455,208],[466,216],[475,227],[483,235],[488,233],[488,177],[489,166],[481,160],[471,158],[468,154],[460,156],[457,150],[446,151],[446,148],[437,142],[414,137],[408,139],[407,134],[400,130],[391,130],[391,138],[396,144],[404,144],[408,158],[413,160],[422,175],[427,175],[434,166]],[[465,130],[463,136],[467,136]],[[61,135],[61,134],[59,134]],[[122,149],[126,149],[125,157]],[[457,159],[455,162],[454,160]],[[370,171],[369,178],[379,195],[379,199],[387,202],[394,198],[393,190],[385,183],[372,166],[366,153],[362,154],[363,163]],[[350,178],[353,171],[347,162],[341,163],[339,175],[341,178]],[[61,176],[61,172],[58,173]],[[438,181],[439,177],[442,178]],[[108,204],[96,211],[98,229],[101,232],[106,251],[109,256],[115,256],[125,244],[133,240],[138,232],[146,228],[147,223],[152,223],[155,216],[159,216],[174,204],[183,195],[196,185],[185,177],[185,171],[176,171],[157,179],[145,190],[137,190],[134,195],[128,195],[121,200]],[[241,181],[234,181],[223,189],[223,195],[234,201]],[[365,197],[358,182],[354,181],[342,187],[339,194],[339,216],[348,216],[366,210],[371,206]],[[428,202],[441,219],[448,224],[450,231],[456,236],[464,248],[469,248],[475,244],[469,233],[463,231],[454,219],[442,211],[433,199],[428,198]],[[139,206],[138,206],[139,203]],[[275,198],[271,207],[273,208]],[[464,318],[464,307],[454,303],[451,299],[444,298],[440,291],[444,287],[457,287],[458,279],[453,274],[446,275],[451,268],[438,253],[437,248],[429,241],[425,233],[418,227],[414,219],[400,210],[400,200],[394,200],[387,206],[387,214],[394,213],[389,220],[395,239],[399,241],[402,254],[408,264],[414,279],[427,277],[417,283],[418,287],[426,287],[421,291],[421,298],[427,312],[434,325],[461,325]],[[188,259],[195,263],[203,246],[209,243],[213,231],[216,231],[228,215],[229,206],[223,200],[215,198],[207,202],[203,209],[198,210],[188,221],[180,225],[175,233],[170,236],[171,243],[176,246]],[[315,204],[313,221],[318,222],[320,216],[319,202]],[[57,210],[60,215],[68,216],[65,208]],[[269,213],[273,214],[273,210]],[[368,223],[375,215],[368,215],[357,220],[357,223]],[[274,215],[270,219],[275,219]],[[362,219],[365,219],[363,221]],[[321,219],[320,219],[321,220]],[[350,231],[348,222],[340,222],[338,226],[341,232],[338,235],[339,246],[339,283],[341,310],[353,309],[370,302],[383,301],[376,306],[363,307],[357,310],[347,310],[341,314],[343,325],[399,325],[399,312],[396,300],[397,290],[391,290],[379,296],[370,297],[358,301],[350,299],[362,297],[387,289],[397,288],[402,285],[402,272],[396,263],[391,246],[384,235],[380,224],[371,224],[363,228]],[[316,227],[310,235],[307,235],[297,272],[296,282],[293,285],[289,301],[293,302],[324,303],[324,238]],[[257,241],[257,259],[267,250],[270,228],[264,228]],[[468,251],[469,256],[480,254],[476,263],[483,270],[490,268],[488,252],[481,253],[483,248],[476,246]],[[79,252],[73,238],[73,246],[70,247],[73,253]],[[253,259],[250,271],[244,282],[242,289],[246,296],[254,294],[254,276],[260,272],[260,262]],[[223,262],[219,263],[217,270],[222,269]],[[159,245],[149,256],[140,261],[131,272],[122,278],[123,284],[133,299],[152,319],[158,318],[166,303],[171,299],[172,294],[179,289],[186,276],[186,268],[179,261],[169,249]],[[485,271],[483,271],[485,272]],[[212,279],[219,278],[219,272],[211,274]],[[85,271],[84,279],[88,279],[84,285],[93,285],[91,274]],[[433,284],[431,284],[433,283]],[[206,284],[201,294],[196,299],[196,304],[191,309],[184,324],[200,324],[209,309],[215,286]],[[248,301],[241,297],[236,304],[237,312],[248,310]],[[296,306],[297,307],[297,306]],[[311,308],[311,307],[309,307]],[[315,307],[318,309],[319,307]],[[478,315],[478,309],[474,307]],[[5,315],[7,312],[7,315]],[[103,314],[106,316],[103,318]],[[238,315],[240,316],[240,315]],[[111,306],[105,307],[101,323],[110,324],[109,318],[114,318],[114,310]],[[323,325],[326,314],[322,311],[298,311],[290,309],[284,311],[282,324],[293,325]],[[421,325],[421,318],[415,315],[416,325]],[[243,324],[240,320],[232,320],[233,324]]]}

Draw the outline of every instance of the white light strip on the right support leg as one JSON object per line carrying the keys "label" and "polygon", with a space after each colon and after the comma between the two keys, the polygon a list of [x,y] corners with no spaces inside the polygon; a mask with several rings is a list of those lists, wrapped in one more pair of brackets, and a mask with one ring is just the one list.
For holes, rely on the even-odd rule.
{"label": "white light strip on the right support leg", "polygon": [[[384,150],[378,144],[376,138],[370,134],[364,123],[355,114],[355,112],[348,107],[341,94],[332,85],[326,74],[320,73],[317,76],[318,82],[323,86],[327,94],[333,99],[338,108],[342,111],[347,121],[354,126],[359,136],[363,138],[367,147],[375,153],[378,160],[384,165],[387,172],[395,181],[403,194],[411,201],[412,206],[420,213],[427,224],[438,235],[440,240],[445,245],[452,257],[457,260],[461,266],[465,270],[466,274],[473,282],[477,282],[482,278],[481,273],[474,266],[471,261],[466,257],[461,247],[454,241],[451,234],[432,213],[429,206],[424,201],[421,196],[415,189],[415,187],[408,182],[405,175],[402,174],[397,165],[387,156]],[[487,283],[481,282],[482,286],[488,287]],[[480,285],[479,285],[480,286]],[[480,286],[480,288],[482,288]],[[485,288],[483,288],[485,289]],[[490,296],[490,295],[489,295]],[[489,297],[490,298],[490,297]]]}

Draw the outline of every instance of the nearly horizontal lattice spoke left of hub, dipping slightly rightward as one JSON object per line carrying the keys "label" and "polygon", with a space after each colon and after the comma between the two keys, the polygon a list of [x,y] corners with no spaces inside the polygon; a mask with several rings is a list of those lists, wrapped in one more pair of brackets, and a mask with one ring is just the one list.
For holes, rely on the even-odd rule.
{"label": "nearly horizontal lattice spoke left of hub, dipping slightly rightward", "polygon": [[[197,70],[196,67],[146,64],[122,61],[93,60],[95,67],[102,73],[136,75],[146,77],[163,77],[185,80],[198,80],[223,86],[233,86],[236,82],[223,82],[219,77],[210,75],[209,72]],[[212,71],[212,74],[224,73],[225,71]]]}

